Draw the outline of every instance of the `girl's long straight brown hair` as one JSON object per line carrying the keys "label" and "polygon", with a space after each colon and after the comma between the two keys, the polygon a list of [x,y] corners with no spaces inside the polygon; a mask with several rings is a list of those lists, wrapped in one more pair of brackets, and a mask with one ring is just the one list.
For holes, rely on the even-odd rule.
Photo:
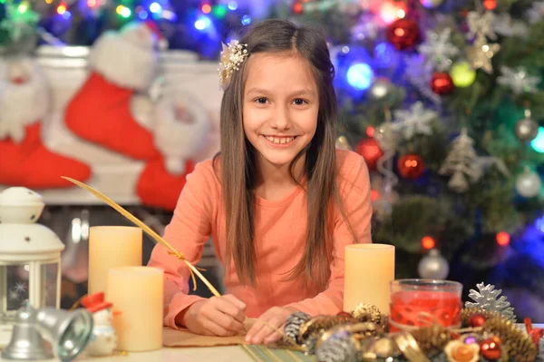
{"label": "girl's long straight brown hair", "polygon": [[[321,29],[297,26],[285,20],[267,20],[252,27],[240,43],[248,44],[249,57],[257,53],[287,53],[301,56],[316,76],[319,113],[316,134],[306,149],[291,162],[293,176],[296,161],[306,154],[307,236],[304,255],[288,278],[305,277],[325,285],[333,259],[333,208],[340,198],[336,188],[335,123],[336,95],[333,87],[334,66]],[[248,142],[242,122],[245,62],[232,74],[221,103],[220,174],[227,228],[227,266],[234,261],[238,279],[255,285],[256,253],[254,207],[256,186],[256,150]],[[297,181],[296,181],[297,182]],[[335,202],[333,202],[335,201]],[[344,215],[344,212],[342,212]],[[351,228],[350,228],[351,229]],[[354,235],[355,237],[355,235]],[[309,277],[309,278],[308,278]]]}

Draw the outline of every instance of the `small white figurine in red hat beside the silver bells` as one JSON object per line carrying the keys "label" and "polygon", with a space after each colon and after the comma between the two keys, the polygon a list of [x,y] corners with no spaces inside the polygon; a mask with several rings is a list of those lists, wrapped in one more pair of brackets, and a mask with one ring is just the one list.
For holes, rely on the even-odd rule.
{"label": "small white figurine in red hat beside the silver bells", "polygon": [[82,305],[92,313],[94,322],[85,353],[92,357],[112,355],[117,347],[117,334],[112,327],[112,303],[104,301],[104,293],[100,292],[84,297]]}

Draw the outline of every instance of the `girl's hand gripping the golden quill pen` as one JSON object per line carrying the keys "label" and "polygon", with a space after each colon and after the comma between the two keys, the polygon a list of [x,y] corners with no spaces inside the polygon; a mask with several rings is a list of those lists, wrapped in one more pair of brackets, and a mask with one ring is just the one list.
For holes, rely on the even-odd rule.
{"label": "girl's hand gripping the golden quill pen", "polygon": [[234,296],[212,297],[190,306],[183,324],[199,335],[234,336],[244,328],[245,311],[246,304]]}

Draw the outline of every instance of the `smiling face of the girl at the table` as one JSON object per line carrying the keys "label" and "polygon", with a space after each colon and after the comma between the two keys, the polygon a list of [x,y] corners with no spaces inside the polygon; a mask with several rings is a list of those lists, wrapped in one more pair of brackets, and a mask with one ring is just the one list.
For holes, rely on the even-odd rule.
{"label": "smiling face of the girl at the table", "polygon": [[316,133],[319,93],[304,58],[250,56],[243,104],[244,132],[259,162],[290,164]]}

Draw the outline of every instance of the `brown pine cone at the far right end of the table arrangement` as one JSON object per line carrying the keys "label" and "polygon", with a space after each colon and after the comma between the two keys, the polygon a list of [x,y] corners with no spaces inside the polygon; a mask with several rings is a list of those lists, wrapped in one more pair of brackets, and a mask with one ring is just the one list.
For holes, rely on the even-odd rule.
{"label": "brown pine cone at the far right end of the table arrangement", "polygon": [[508,357],[516,362],[532,362],[539,354],[531,338],[503,317],[487,318],[482,327],[502,340]]}

